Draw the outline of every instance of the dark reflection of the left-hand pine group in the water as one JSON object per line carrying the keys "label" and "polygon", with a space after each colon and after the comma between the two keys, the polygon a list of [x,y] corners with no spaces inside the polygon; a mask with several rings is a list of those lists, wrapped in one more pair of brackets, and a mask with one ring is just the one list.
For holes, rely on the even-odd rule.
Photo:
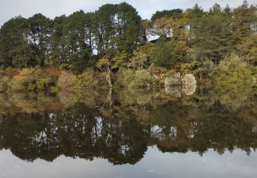
{"label": "dark reflection of the left-hand pine group in the water", "polygon": [[[58,155],[113,164],[135,164],[147,150],[145,132],[132,120],[97,116],[85,105],[68,112],[8,116],[0,123],[1,148],[24,160],[52,161]],[[12,127],[12,128],[11,128]]]}

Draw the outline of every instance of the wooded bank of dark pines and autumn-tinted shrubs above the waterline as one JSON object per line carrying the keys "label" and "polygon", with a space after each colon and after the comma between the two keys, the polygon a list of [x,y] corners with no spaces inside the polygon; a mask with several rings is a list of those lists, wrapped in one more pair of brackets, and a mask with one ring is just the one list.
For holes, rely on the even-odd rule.
{"label": "wooded bank of dark pines and autumn-tinted shrubs above the waterline", "polygon": [[178,72],[204,82],[252,82],[257,5],[215,3],[206,12],[196,4],[151,19],[125,2],[54,19],[16,16],[0,29],[0,66],[3,91],[158,87]]}

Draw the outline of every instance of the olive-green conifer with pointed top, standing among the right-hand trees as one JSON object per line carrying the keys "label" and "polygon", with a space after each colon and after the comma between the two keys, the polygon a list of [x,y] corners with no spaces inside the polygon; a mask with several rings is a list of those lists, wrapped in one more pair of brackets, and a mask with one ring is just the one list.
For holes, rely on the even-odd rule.
{"label": "olive-green conifer with pointed top, standing among the right-hand trees", "polygon": [[197,26],[193,29],[195,34],[195,47],[201,51],[197,60],[212,60],[215,64],[224,55],[230,53],[232,31],[230,21],[224,21],[221,8],[218,4],[212,6],[208,15],[199,18]]}

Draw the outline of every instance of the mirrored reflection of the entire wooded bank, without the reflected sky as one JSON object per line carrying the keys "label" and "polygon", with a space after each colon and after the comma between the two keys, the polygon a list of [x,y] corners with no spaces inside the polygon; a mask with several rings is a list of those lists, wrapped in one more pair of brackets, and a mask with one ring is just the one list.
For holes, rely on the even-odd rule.
{"label": "mirrored reflection of the entire wooded bank, without the reflected sky", "polygon": [[254,86],[199,86],[167,91],[77,90],[1,94],[0,149],[33,162],[60,155],[136,164],[156,146],[163,153],[203,155],[257,147]]}

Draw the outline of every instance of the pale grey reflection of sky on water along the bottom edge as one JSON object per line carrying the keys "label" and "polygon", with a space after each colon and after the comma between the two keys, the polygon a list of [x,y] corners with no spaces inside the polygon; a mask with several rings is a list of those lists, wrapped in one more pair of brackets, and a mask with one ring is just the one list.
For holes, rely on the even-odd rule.
{"label": "pale grey reflection of sky on water along the bottom edge", "polygon": [[88,162],[83,159],[58,157],[51,163],[19,160],[3,150],[0,152],[0,177],[256,177],[257,153],[247,156],[243,151],[223,155],[208,151],[197,153],[161,153],[149,147],[138,164],[112,166],[108,160]]}

